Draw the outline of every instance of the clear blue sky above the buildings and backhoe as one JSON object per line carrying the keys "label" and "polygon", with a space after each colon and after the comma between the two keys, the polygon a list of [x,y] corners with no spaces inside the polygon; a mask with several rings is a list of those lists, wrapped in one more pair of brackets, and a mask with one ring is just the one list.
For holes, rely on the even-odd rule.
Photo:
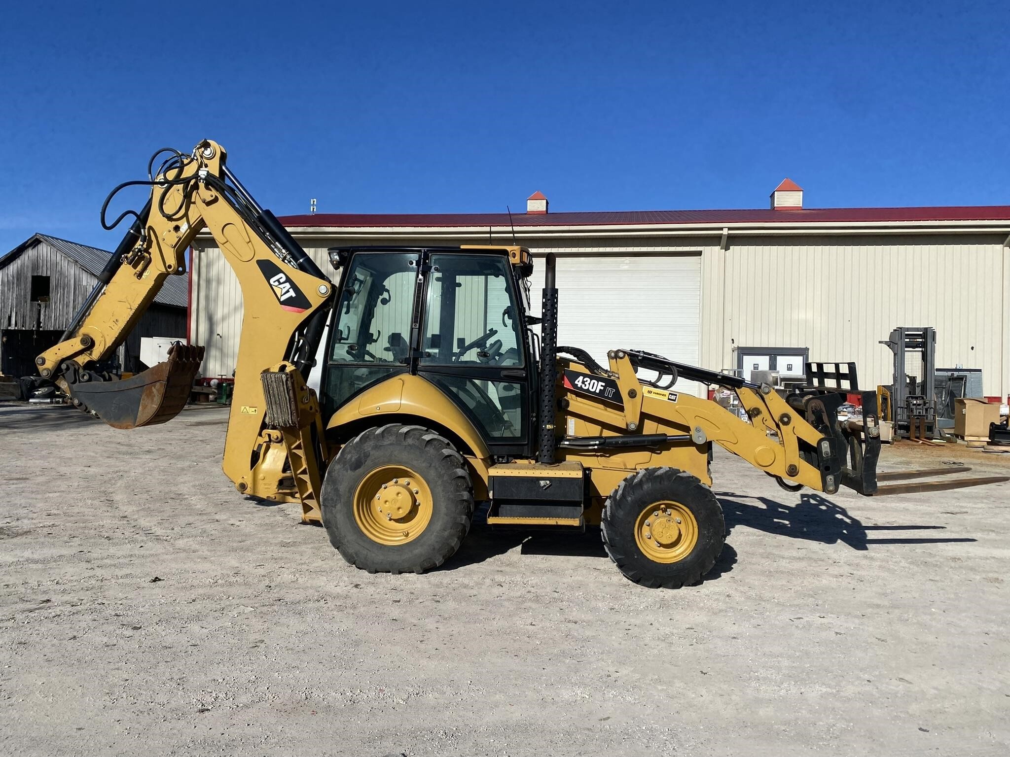
{"label": "clear blue sky above the buildings and backhoe", "polygon": [[[164,15],[172,11],[172,15]],[[1005,2],[8,3],[0,252],[203,137],[278,215],[1010,204]],[[134,190],[134,192],[138,192]],[[125,193],[113,206],[139,207]]]}

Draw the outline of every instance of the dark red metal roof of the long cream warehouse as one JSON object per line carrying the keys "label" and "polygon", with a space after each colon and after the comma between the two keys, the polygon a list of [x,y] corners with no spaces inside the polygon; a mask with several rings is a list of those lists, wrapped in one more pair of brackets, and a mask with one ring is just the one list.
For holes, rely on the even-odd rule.
{"label": "dark red metal roof of the long cream warehouse", "polygon": [[[459,227],[508,226],[507,213],[315,213],[283,216],[285,226]],[[903,223],[914,221],[1010,221],[1010,205],[936,208],[812,208],[809,210],[631,210],[585,213],[516,213],[520,226],[618,226],[676,224]]]}

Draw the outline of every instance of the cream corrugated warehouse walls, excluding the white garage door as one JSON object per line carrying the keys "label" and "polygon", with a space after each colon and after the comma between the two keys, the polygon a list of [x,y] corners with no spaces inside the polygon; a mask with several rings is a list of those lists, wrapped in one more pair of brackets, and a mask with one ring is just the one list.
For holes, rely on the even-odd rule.
{"label": "cream corrugated warehouse walls, excluding the white garage door", "polygon": [[[723,250],[718,236],[523,239],[537,257],[546,252],[701,252],[703,367],[735,367],[735,346],[809,347],[813,360],[855,360],[862,383],[876,386],[890,383],[892,369],[890,351],[877,342],[896,326],[934,326],[937,366],[981,367],[986,394],[1006,396],[1010,264],[1002,241],[1002,236],[978,234],[730,235],[729,249]],[[407,243],[393,237],[333,237],[313,239],[306,249],[331,274],[326,247],[384,242]],[[424,243],[459,240],[425,238]],[[538,302],[538,293],[532,296]],[[204,372],[230,375],[241,296],[214,247],[194,254],[193,300],[193,341],[207,347]]]}

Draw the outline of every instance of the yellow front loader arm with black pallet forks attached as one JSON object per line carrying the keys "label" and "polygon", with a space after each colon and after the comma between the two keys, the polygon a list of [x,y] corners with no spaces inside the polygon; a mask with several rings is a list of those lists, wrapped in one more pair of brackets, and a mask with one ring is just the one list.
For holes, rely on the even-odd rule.
{"label": "yellow front loader arm with black pallet forks attached", "polygon": [[[563,357],[564,367],[605,376],[613,382],[613,392],[620,397],[617,402],[601,403],[588,396],[592,392],[566,392],[564,407],[568,413],[591,420],[604,433],[589,439],[566,437],[562,446],[572,450],[570,457],[573,453],[578,457],[579,450],[651,448],[655,453],[647,464],[672,465],[678,458],[666,451],[671,445],[694,444],[701,450],[714,443],[764,470],[791,492],[809,486],[834,494],[840,486],[847,486],[867,497],[944,492],[1010,480],[1008,476],[949,478],[946,476],[971,470],[950,465],[889,471],[878,476],[881,438],[879,418],[874,412],[878,407],[876,392],[856,393],[864,408],[861,421],[839,421],[838,409],[846,398],[837,391],[808,388],[783,398],[768,385],[750,384],[739,376],[674,362],[649,352],[612,350],[608,370],[583,350],[561,349],[578,358],[575,361]],[[659,379],[641,379],[639,369],[655,371]],[[673,391],[678,377],[731,389],[748,420],[741,420],[711,400]],[[607,386],[602,382],[591,385]],[[563,387],[575,389],[570,387],[568,376]],[[847,394],[852,393],[854,390]],[[941,478],[884,485],[878,482],[936,476]]]}

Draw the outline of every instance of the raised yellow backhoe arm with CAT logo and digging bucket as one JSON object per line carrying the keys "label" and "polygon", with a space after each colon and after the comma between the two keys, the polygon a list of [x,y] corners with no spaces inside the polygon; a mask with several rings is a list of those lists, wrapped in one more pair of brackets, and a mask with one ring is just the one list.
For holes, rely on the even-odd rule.
{"label": "raised yellow backhoe arm with CAT logo and digging bucket", "polygon": [[[177,344],[167,362],[124,381],[98,372],[95,364],[126,338],[166,279],[185,273],[186,249],[206,228],[234,271],[244,305],[223,468],[241,493],[297,501],[281,435],[265,421],[260,376],[284,363],[307,377],[333,285],[228,171],[219,144],[205,140],[192,154],[171,152],[154,177],[148,167],[149,181],[127,183],[149,185],[150,198],[61,341],[36,358],[39,373],[75,406],[116,428],[177,415],[202,347]],[[314,397],[311,405],[317,405]]]}

